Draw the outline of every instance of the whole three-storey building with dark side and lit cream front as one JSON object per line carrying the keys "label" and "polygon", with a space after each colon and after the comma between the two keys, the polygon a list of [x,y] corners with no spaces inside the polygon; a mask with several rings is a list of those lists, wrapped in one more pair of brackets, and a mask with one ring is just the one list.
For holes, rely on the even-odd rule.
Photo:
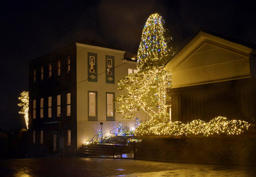
{"label": "whole three-storey building with dark side and lit cream front", "polygon": [[[137,72],[126,51],[92,41],[74,43],[29,62],[29,129],[34,146],[48,153],[72,154],[102,129],[116,133],[119,122],[132,129],[135,120],[114,111],[117,81]],[[146,114],[137,110],[143,121]]]}

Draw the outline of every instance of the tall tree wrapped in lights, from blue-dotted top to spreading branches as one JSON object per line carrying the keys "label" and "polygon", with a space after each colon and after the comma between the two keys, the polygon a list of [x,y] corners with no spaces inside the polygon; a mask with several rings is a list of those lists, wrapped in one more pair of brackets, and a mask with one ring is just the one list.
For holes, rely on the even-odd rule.
{"label": "tall tree wrapped in lights, from blue-dotted top to spreading branches", "polygon": [[138,73],[129,74],[117,83],[119,90],[128,92],[116,98],[116,102],[121,103],[116,111],[124,114],[124,118],[134,118],[135,107],[142,108],[160,122],[169,117],[166,93],[172,86],[172,79],[164,66],[174,56],[175,45],[164,23],[159,14],[149,16],[138,50]]}

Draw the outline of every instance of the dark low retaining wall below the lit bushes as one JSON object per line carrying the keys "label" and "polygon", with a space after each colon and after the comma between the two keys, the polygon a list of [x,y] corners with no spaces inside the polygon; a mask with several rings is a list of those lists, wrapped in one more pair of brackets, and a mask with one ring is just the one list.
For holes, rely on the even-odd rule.
{"label": "dark low retaining wall below the lit bushes", "polygon": [[142,137],[137,158],[256,164],[256,136]]}

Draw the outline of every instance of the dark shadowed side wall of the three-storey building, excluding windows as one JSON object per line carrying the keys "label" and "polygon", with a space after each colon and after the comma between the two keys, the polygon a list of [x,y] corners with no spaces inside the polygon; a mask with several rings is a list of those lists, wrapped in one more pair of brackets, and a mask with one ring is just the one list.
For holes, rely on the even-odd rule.
{"label": "dark shadowed side wall of the three-storey building, excluding windows", "polygon": [[[67,72],[67,58],[71,59],[71,70]],[[58,60],[61,60],[61,75],[58,76]],[[49,64],[52,77],[49,78]],[[43,66],[43,80],[41,67]],[[34,82],[36,69],[36,82]],[[71,93],[71,116],[67,116],[67,93]],[[57,117],[57,95],[61,95],[61,116]],[[48,115],[48,97],[52,97],[52,117]],[[43,117],[41,118],[41,98]],[[45,146],[49,153],[70,154],[77,149],[76,127],[76,46],[70,45],[53,53],[41,56],[29,63],[29,130],[33,146]],[[33,100],[36,100],[36,118],[33,118]],[[67,131],[71,130],[71,144],[68,145]],[[41,131],[43,143],[41,144]],[[53,135],[57,136],[57,149],[53,150]]]}

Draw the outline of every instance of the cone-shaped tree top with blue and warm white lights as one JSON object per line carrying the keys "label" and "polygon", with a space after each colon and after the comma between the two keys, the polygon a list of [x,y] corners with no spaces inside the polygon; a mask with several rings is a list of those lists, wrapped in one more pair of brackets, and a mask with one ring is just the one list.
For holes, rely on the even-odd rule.
{"label": "cone-shaped tree top with blue and warm white lights", "polygon": [[175,44],[168,28],[165,27],[165,20],[157,13],[150,15],[139,45],[138,70],[163,67],[175,53]]}

